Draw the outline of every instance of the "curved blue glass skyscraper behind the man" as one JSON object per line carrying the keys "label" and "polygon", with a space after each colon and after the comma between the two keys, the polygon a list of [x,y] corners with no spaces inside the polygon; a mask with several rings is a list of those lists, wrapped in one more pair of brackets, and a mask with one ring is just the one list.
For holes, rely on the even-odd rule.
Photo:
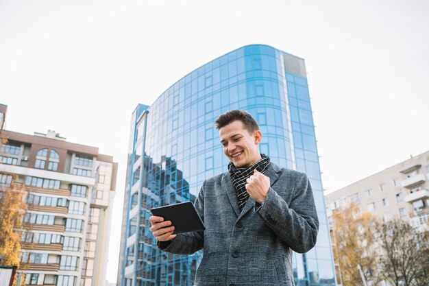
{"label": "curved blue glass skyscraper behind the man", "polygon": [[251,113],[260,152],[310,178],[319,215],[315,248],[294,253],[295,285],[335,285],[319,157],[304,60],[267,45],[231,51],[184,76],[132,115],[119,285],[193,285],[201,252],[161,252],[150,208],[195,200],[206,178],[228,171],[214,121],[228,110]]}

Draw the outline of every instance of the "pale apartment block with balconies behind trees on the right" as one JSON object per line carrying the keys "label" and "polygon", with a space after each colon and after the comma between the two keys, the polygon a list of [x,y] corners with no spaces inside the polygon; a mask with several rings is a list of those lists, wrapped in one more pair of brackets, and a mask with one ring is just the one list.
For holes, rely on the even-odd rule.
{"label": "pale apartment block with balconies behind trees on the right", "polygon": [[328,217],[336,208],[354,202],[361,212],[410,221],[424,230],[429,222],[429,151],[411,156],[325,196]]}

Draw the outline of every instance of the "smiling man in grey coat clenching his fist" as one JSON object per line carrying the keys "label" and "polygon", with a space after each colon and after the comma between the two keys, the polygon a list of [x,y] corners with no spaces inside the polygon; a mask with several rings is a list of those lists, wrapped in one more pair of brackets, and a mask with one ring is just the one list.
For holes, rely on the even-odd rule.
{"label": "smiling man in grey coat clenching his fist", "polygon": [[204,249],[195,285],[294,285],[292,250],[315,246],[319,221],[305,174],[282,169],[260,154],[258,123],[231,110],[215,121],[228,172],[205,180],[195,208],[206,230],[173,235],[174,226],[150,217],[161,250]]}

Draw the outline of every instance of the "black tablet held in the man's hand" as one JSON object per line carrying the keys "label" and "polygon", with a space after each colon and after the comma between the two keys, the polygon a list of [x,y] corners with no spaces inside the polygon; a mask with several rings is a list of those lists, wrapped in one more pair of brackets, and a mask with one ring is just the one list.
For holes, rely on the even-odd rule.
{"label": "black tablet held in the man's hand", "polygon": [[206,229],[192,202],[152,208],[151,213],[157,217],[164,217],[164,220],[171,220],[171,225],[175,227],[174,234]]}

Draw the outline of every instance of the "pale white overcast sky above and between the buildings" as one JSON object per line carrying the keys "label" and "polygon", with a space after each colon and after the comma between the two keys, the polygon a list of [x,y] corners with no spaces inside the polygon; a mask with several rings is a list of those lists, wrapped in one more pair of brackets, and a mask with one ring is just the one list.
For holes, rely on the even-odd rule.
{"label": "pale white overcast sky above and between the buildings", "polygon": [[8,130],[56,130],[119,163],[114,282],[138,103],[243,45],[302,57],[334,191],[429,149],[428,15],[426,0],[0,0],[0,103]]}

